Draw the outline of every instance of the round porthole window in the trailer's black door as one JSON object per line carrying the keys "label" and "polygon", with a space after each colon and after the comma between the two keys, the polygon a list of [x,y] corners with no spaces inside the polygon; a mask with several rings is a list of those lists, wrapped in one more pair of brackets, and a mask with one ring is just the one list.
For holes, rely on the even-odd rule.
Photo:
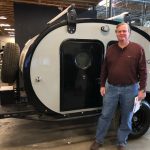
{"label": "round porthole window in the trailer's black door", "polygon": [[80,69],[85,70],[91,66],[91,57],[89,54],[81,52],[75,57],[75,64]]}

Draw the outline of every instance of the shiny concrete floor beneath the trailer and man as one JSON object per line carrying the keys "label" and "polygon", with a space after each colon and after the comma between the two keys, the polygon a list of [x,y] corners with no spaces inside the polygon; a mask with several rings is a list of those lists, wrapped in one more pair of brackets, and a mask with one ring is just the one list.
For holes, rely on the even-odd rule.
{"label": "shiny concrete floor beneath the trailer and man", "polygon": [[[0,119],[0,150],[89,150],[96,121],[82,119],[65,122],[40,122],[25,119]],[[109,131],[102,150],[115,150],[115,135]],[[150,130],[130,140],[127,150],[150,150]]]}

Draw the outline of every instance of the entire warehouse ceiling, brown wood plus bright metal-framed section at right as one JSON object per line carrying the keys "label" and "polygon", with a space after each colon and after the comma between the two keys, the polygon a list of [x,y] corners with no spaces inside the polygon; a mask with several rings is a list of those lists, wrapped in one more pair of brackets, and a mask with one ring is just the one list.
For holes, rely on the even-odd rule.
{"label": "entire warehouse ceiling, brown wood plus bright metal-framed section at right", "polygon": [[[0,24],[10,24],[11,28],[14,27],[14,2],[57,6],[63,9],[67,8],[71,4],[75,4],[76,8],[89,8],[97,6],[102,0],[0,0],[0,16],[6,16],[7,19],[1,20]],[[109,2],[110,0],[106,0]],[[112,1],[112,16],[118,15],[122,12],[128,11],[131,13],[132,19],[135,22],[140,22],[140,25],[144,21],[150,21],[150,0],[111,0]],[[109,4],[108,4],[109,5]],[[109,9],[106,10],[105,6],[98,6],[97,13],[99,18],[107,18]],[[0,27],[0,35],[7,35],[8,32],[4,31],[3,27]]]}

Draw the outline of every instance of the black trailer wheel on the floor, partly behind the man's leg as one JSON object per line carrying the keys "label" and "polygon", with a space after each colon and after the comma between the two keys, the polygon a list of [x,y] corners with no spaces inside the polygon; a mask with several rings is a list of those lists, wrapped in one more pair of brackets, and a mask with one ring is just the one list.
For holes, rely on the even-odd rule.
{"label": "black trailer wheel on the floor, partly behind the man's leg", "polygon": [[132,133],[130,139],[136,139],[144,135],[150,126],[150,106],[146,101],[142,102],[140,109],[132,119]]}

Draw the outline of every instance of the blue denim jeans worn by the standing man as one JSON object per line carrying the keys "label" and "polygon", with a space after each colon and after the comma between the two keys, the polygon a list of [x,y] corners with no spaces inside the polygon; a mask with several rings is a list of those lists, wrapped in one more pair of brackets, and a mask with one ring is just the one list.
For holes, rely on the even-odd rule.
{"label": "blue denim jeans worn by the standing man", "polygon": [[106,94],[103,97],[102,115],[99,117],[96,141],[104,142],[104,137],[108,131],[111,120],[114,116],[118,103],[121,110],[121,124],[117,132],[117,145],[125,146],[127,138],[132,131],[132,117],[134,98],[138,94],[138,84],[129,86],[114,86],[106,84]]}

